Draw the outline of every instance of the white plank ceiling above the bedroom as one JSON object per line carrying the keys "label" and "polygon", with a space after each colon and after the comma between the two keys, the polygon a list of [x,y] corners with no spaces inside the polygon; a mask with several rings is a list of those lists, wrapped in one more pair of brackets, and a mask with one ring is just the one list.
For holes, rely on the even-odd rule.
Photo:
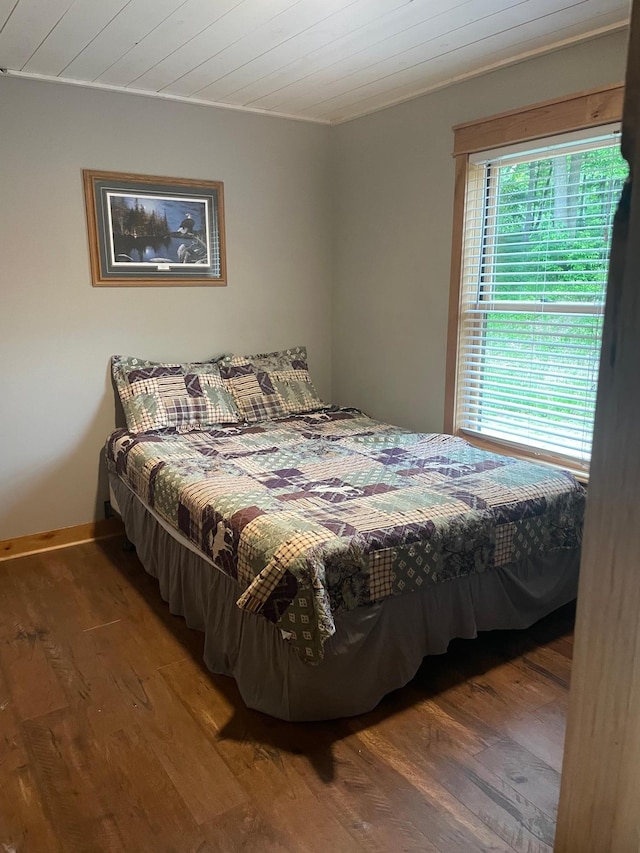
{"label": "white plank ceiling above the bedroom", "polygon": [[628,19],[627,0],[0,0],[0,68],[335,123]]}

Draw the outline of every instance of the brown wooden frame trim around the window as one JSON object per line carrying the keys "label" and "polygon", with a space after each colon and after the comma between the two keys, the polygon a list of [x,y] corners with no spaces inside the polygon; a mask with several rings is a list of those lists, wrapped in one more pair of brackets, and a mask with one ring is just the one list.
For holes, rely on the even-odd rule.
{"label": "brown wooden frame trim around the window", "polygon": [[[449,323],[445,376],[444,431],[460,434],[456,422],[458,344],[460,335],[460,298],[465,228],[466,191],[469,177],[469,156],[521,142],[533,142],[562,133],[588,130],[622,119],[623,84],[604,86],[575,95],[510,110],[489,118],[478,119],[453,128],[455,184],[453,197],[453,229],[451,244],[451,280],[449,289]],[[559,464],[558,457],[514,448],[499,439],[465,438],[487,450]],[[565,466],[566,467],[566,466]],[[568,467],[571,467],[570,465]],[[586,479],[584,472],[576,471]]]}

